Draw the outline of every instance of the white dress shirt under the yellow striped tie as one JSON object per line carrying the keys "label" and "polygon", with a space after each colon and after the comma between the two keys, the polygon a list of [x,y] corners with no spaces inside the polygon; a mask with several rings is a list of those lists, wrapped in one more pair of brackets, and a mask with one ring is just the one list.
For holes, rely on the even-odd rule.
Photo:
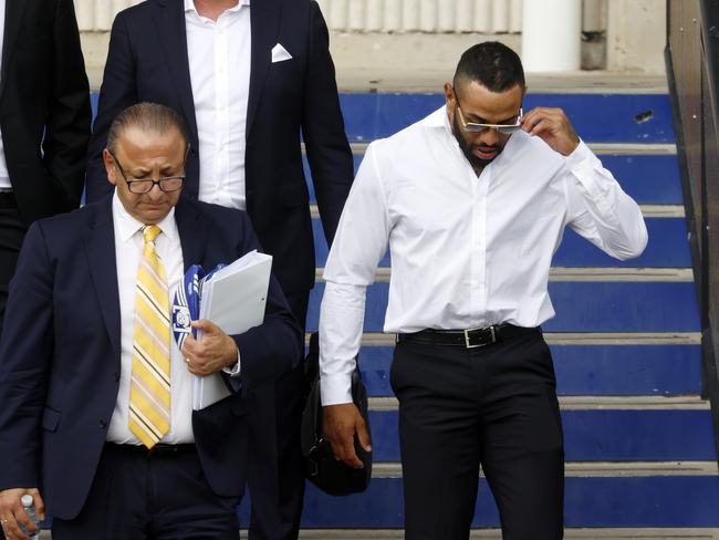
{"label": "white dress shirt under the yellow striped tie", "polygon": [[[175,208],[157,224],[163,231],[155,240],[157,255],[167,276],[168,294],[175,291],[183,279],[184,261]],[[110,422],[107,440],[117,444],[139,445],[139,439],[129,430],[127,411],[129,408],[129,382],[133,370],[133,342],[135,332],[135,285],[137,269],[143,257],[145,240],[142,227],[113,196],[113,227],[115,230],[115,260],[117,261],[117,290],[119,292],[121,322],[121,370],[117,403]],[[170,304],[171,304],[170,298]],[[161,443],[192,443],[192,374],[170,338],[170,429]]]}

